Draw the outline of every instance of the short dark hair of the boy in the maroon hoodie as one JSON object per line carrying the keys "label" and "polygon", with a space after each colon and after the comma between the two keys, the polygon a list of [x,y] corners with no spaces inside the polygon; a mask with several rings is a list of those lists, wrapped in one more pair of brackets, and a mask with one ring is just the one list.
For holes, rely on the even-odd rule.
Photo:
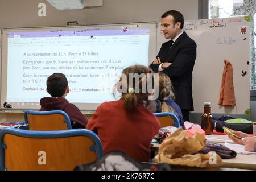
{"label": "short dark hair of the boy in the maroon hoodie", "polygon": [[61,97],[68,87],[68,80],[63,73],[53,73],[47,78],[47,91],[52,97]]}

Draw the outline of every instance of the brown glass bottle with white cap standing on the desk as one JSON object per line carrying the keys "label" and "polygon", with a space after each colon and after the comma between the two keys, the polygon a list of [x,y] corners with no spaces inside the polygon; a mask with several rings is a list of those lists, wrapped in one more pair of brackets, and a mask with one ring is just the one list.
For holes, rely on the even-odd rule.
{"label": "brown glass bottle with white cap standing on the desk", "polygon": [[205,134],[212,135],[213,132],[213,117],[210,113],[210,102],[204,102],[204,114],[201,117],[201,128],[205,131]]}

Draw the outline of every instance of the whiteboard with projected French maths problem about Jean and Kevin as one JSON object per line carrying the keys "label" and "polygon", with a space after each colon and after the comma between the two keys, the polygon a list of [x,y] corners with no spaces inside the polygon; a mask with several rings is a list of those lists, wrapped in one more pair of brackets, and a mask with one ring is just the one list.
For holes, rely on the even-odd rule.
{"label": "whiteboard with projected French maths problem about Jean and Kevin", "polygon": [[113,101],[122,69],[148,65],[156,55],[156,23],[4,29],[2,34],[1,107],[39,109],[52,73],[64,73],[67,100],[93,111]]}

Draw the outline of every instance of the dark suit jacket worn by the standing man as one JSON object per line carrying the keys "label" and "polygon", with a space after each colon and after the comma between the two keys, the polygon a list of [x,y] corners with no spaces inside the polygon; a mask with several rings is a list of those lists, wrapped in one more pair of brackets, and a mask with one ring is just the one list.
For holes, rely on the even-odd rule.
{"label": "dark suit jacket worn by the standing man", "polygon": [[[192,71],[196,60],[196,43],[183,32],[170,47],[170,41],[163,43],[158,53],[162,63],[172,63],[162,72],[172,81],[175,102],[181,109],[193,111]],[[150,68],[156,73],[159,65],[151,63]]]}

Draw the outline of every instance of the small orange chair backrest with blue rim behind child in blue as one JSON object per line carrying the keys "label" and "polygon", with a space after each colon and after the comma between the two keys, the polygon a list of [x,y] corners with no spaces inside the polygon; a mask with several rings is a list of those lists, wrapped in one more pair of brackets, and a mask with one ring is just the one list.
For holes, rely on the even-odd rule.
{"label": "small orange chair backrest with blue rim behind child in blue", "polygon": [[173,113],[154,113],[160,122],[160,127],[175,126],[180,127],[179,119]]}

